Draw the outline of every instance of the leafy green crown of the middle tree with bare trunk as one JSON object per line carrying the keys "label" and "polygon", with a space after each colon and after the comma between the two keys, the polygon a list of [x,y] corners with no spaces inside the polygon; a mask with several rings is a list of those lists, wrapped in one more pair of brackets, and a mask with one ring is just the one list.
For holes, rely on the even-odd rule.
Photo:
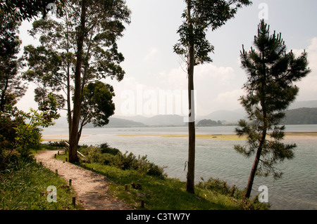
{"label": "leafy green crown of the middle tree with bare trunk", "polygon": [[[188,0],[187,4],[191,11],[190,21],[188,21],[187,11],[185,11],[182,14],[185,21],[178,29],[180,39],[174,46],[174,52],[187,59],[189,46],[192,43],[194,46],[194,65],[200,65],[204,62],[212,62],[209,53],[213,52],[214,47],[206,39],[208,29],[218,29],[235,16],[238,8],[249,6],[251,1]],[[192,24],[192,27],[188,26],[188,22]]]}

